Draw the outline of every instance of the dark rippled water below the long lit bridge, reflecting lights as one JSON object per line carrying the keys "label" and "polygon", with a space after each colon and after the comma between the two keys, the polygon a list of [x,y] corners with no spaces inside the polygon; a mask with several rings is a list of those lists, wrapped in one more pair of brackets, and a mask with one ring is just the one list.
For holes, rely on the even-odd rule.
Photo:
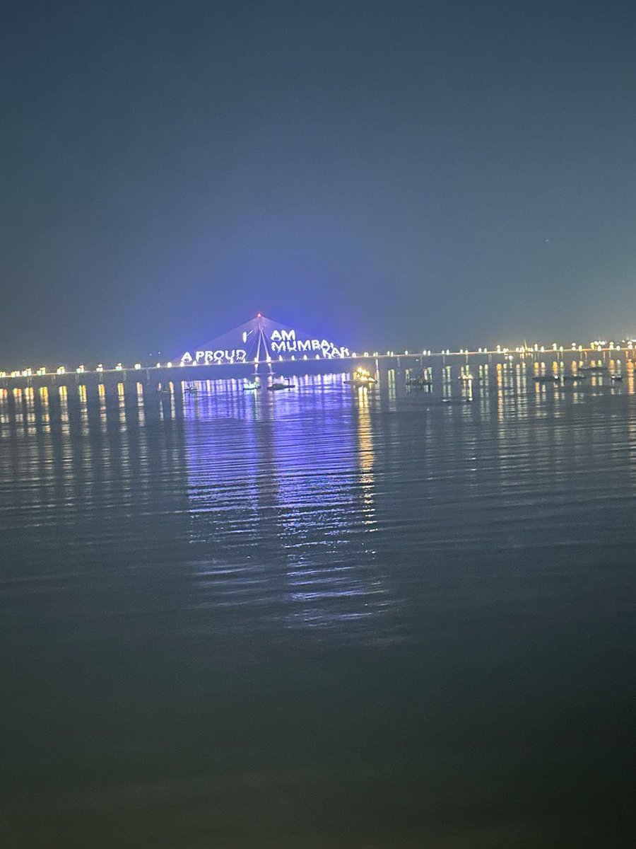
{"label": "dark rippled water below the long lit bridge, reflecting lights", "polygon": [[0,391],[15,849],[636,846],[633,377]]}

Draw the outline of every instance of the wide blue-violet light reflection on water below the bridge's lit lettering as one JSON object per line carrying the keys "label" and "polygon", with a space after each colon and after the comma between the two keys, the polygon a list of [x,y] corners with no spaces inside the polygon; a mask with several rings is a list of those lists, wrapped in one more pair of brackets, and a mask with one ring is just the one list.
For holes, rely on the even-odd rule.
{"label": "wide blue-violet light reflection on water below the bridge's lit lettering", "polygon": [[253,605],[281,627],[380,638],[371,620],[393,602],[369,538],[370,396],[339,376],[276,395],[234,381],[206,390],[184,400],[192,544],[231,547],[235,565],[199,554],[196,604]]}

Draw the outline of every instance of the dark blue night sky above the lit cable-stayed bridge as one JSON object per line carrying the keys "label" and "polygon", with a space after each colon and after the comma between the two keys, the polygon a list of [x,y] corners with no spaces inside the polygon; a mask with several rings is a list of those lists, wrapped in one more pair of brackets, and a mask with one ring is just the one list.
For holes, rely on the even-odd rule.
{"label": "dark blue night sky above the lit cable-stayed bridge", "polygon": [[632,3],[3,8],[0,368],[636,334]]}

